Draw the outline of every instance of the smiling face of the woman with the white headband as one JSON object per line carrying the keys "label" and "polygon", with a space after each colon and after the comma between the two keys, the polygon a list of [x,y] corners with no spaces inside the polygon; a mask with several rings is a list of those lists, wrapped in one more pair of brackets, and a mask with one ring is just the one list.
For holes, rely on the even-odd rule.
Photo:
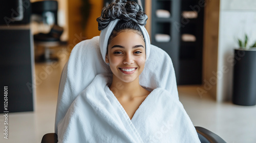
{"label": "smiling face of the woman with the white headband", "polygon": [[139,80],[146,61],[145,42],[134,30],[124,30],[108,45],[106,63],[110,63],[113,80],[125,83]]}

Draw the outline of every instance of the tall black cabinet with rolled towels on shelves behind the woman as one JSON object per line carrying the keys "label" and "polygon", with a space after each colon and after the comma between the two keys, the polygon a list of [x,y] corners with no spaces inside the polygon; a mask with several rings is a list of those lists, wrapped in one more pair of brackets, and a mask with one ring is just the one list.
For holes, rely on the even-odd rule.
{"label": "tall black cabinet with rolled towels on shelves behind the woman", "polygon": [[204,1],[152,1],[152,44],[172,58],[177,83],[202,83]]}

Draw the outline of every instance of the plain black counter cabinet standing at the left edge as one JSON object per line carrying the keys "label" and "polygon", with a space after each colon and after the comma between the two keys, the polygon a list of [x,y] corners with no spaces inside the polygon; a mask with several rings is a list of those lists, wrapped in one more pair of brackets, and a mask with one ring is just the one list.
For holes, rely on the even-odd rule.
{"label": "plain black counter cabinet standing at the left edge", "polygon": [[34,53],[30,27],[0,27],[0,43],[0,87],[3,93],[4,87],[8,87],[7,110],[2,96],[0,112],[33,111]]}

